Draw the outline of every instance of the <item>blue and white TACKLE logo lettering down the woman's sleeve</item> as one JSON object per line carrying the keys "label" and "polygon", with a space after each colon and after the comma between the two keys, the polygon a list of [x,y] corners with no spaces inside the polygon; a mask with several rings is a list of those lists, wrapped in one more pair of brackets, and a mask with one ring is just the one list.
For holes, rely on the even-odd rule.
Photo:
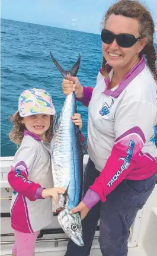
{"label": "blue and white TACKLE logo lettering down the woman's sleeve", "polygon": [[134,141],[130,140],[129,142],[129,148],[127,148],[127,156],[124,157],[120,157],[119,160],[123,160],[123,164],[120,166],[120,169],[117,171],[117,173],[113,176],[113,178],[111,179],[111,181],[108,182],[107,186],[111,187],[111,185],[113,185],[114,181],[117,181],[118,176],[121,175],[121,173],[126,170],[129,165],[130,165],[130,159],[132,159],[133,156],[133,148],[134,148]]}

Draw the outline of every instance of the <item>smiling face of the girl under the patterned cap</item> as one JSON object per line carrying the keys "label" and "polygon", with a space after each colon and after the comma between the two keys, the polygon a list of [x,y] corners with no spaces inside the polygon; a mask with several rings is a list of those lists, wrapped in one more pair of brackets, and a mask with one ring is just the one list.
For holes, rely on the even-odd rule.
{"label": "smiling face of the girl under the patterned cap", "polygon": [[23,122],[28,131],[37,134],[41,140],[46,139],[46,131],[50,127],[50,115],[36,114],[25,116]]}

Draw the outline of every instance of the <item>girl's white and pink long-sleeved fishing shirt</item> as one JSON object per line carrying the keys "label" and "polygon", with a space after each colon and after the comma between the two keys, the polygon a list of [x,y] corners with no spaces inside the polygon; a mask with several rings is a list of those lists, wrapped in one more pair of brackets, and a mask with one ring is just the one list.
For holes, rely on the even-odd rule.
{"label": "girl's white and pink long-sleeved fishing shirt", "polygon": [[53,177],[50,154],[41,139],[28,131],[24,134],[8,173],[8,182],[14,189],[11,226],[32,233],[52,222],[52,198],[43,199],[41,192],[53,187]]}

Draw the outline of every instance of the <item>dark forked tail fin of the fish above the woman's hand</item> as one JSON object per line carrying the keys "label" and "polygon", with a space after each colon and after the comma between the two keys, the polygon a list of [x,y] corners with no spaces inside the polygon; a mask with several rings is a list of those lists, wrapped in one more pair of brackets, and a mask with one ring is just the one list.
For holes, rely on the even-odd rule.
{"label": "dark forked tail fin of the fish above the woman's hand", "polygon": [[59,63],[56,61],[56,59],[53,57],[52,53],[50,52],[52,61],[54,62],[54,64],[56,65],[57,69],[60,71],[60,73],[63,75],[63,78],[66,78],[66,75],[71,75],[72,77],[76,77],[76,74],[78,73],[78,69],[79,69],[79,64],[81,61],[81,55],[79,54],[79,58],[76,61],[76,63],[73,65],[73,67],[71,68],[71,70],[66,71],[65,69],[63,69]]}

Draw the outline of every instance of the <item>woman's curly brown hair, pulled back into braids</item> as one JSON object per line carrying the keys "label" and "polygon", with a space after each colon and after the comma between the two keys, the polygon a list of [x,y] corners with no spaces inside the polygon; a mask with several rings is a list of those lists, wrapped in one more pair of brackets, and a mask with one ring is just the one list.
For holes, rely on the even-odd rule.
{"label": "woman's curly brown hair, pulled back into braids", "polygon": [[[140,24],[140,37],[147,38],[148,43],[143,48],[142,52],[139,53],[139,56],[145,55],[148,67],[154,76],[154,79],[157,80],[157,70],[156,70],[156,53],[153,46],[153,33],[155,33],[155,27],[153,23],[152,16],[150,12],[138,1],[132,0],[121,0],[108,9],[102,21],[102,29],[104,29],[107,19],[111,14],[123,15],[124,17],[134,18],[139,21]],[[104,76],[107,75],[105,69],[107,61],[103,57],[102,60],[102,71]]]}

